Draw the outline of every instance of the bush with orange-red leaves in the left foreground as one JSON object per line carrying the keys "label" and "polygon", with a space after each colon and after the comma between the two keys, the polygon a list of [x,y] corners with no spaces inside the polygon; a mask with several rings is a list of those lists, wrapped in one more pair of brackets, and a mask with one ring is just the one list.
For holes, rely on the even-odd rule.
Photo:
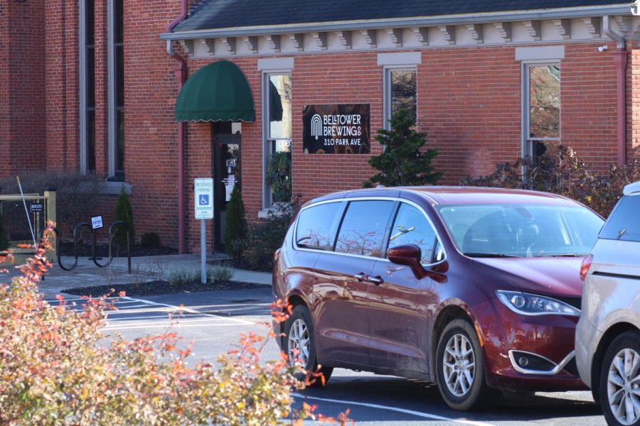
{"label": "bush with orange-red leaves in the left foreground", "polygon": [[[51,264],[46,259],[53,224],[22,275],[0,285],[1,425],[278,425],[305,418],[337,420],[314,414],[303,404],[292,410],[292,389],[300,368],[281,359],[262,364],[268,339],[250,333],[218,367],[189,366],[188,347],[174,333],[127,342],[105,339],[106,297],[87,298],[82,310],[62,297],[50,305],[38,283]],[[11,253],[0,261],[12,261]],[[279,302],[282,311],[284,302]],[[286,311],[285,311],[286,312]],[[287,320],[286,313],[276,317]],[[313,378],[311,374],[308,377]]]}

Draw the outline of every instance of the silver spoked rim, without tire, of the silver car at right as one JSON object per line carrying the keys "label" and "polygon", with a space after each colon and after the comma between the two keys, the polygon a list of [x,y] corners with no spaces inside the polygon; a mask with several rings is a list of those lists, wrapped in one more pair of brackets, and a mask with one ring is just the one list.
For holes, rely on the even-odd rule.
{"label": "silver spoked rim, without tire, of the silver car at right", "polygon": [[622,425],[640,419],[640,354],[634,349],[622,349],[611,361],[607,396],[611,412]]}

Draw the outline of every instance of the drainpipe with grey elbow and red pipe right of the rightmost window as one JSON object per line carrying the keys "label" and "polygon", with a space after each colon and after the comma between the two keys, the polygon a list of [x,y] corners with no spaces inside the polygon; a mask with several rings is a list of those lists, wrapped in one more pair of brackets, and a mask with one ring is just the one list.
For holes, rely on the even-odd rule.
{"label": "drainpipe with grey elbow and red pipe right of the rightmost window", "polygon": [[611,29],[611,16],[602,17],[602,30],[614,40],[617,50],[612,52],[617,74],[617,106],[618,106],[618,165],[626,164],[626,62],[629,52],[626,51],[624,38]]}

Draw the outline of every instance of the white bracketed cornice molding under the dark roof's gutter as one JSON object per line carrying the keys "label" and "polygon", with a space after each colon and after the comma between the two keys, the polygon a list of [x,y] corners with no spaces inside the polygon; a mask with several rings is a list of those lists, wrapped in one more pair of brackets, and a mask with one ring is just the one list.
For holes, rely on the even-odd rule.
{"label": "white bracketed cornice molding under the dark roof's gutter", "polygon": [[[626,40],[639,35],[640,16],[612,16],[614,31]],[[453,26],[412,26],[362,29],[356,31],[311,31],[309,33],[270,34],[260,37],[182,39],[178,42],[193,58],[299,53],[338,53],[368,50],[411,50],[484,45],[545,45],[549,43],[606,42],[602,17],[550,19],[499,23],[467,23]],[[195,43],[194,43],[195,41]]]}

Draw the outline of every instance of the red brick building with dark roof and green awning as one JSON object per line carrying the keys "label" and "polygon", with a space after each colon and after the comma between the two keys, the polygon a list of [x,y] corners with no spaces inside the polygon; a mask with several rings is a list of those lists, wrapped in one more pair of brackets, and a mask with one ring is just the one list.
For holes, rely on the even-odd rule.
{"label": "red brick building with dark roof and green awning", "polygon": [[291,193],[361,187],[400,107],[445,184],[558,143],[604,169],[639,149],[636,15],[606,0],[5,1],[0,176],[124,184],[139,233],[188,251],[193,178],[215,179],[220,248],[233,185],[251,220]]}

